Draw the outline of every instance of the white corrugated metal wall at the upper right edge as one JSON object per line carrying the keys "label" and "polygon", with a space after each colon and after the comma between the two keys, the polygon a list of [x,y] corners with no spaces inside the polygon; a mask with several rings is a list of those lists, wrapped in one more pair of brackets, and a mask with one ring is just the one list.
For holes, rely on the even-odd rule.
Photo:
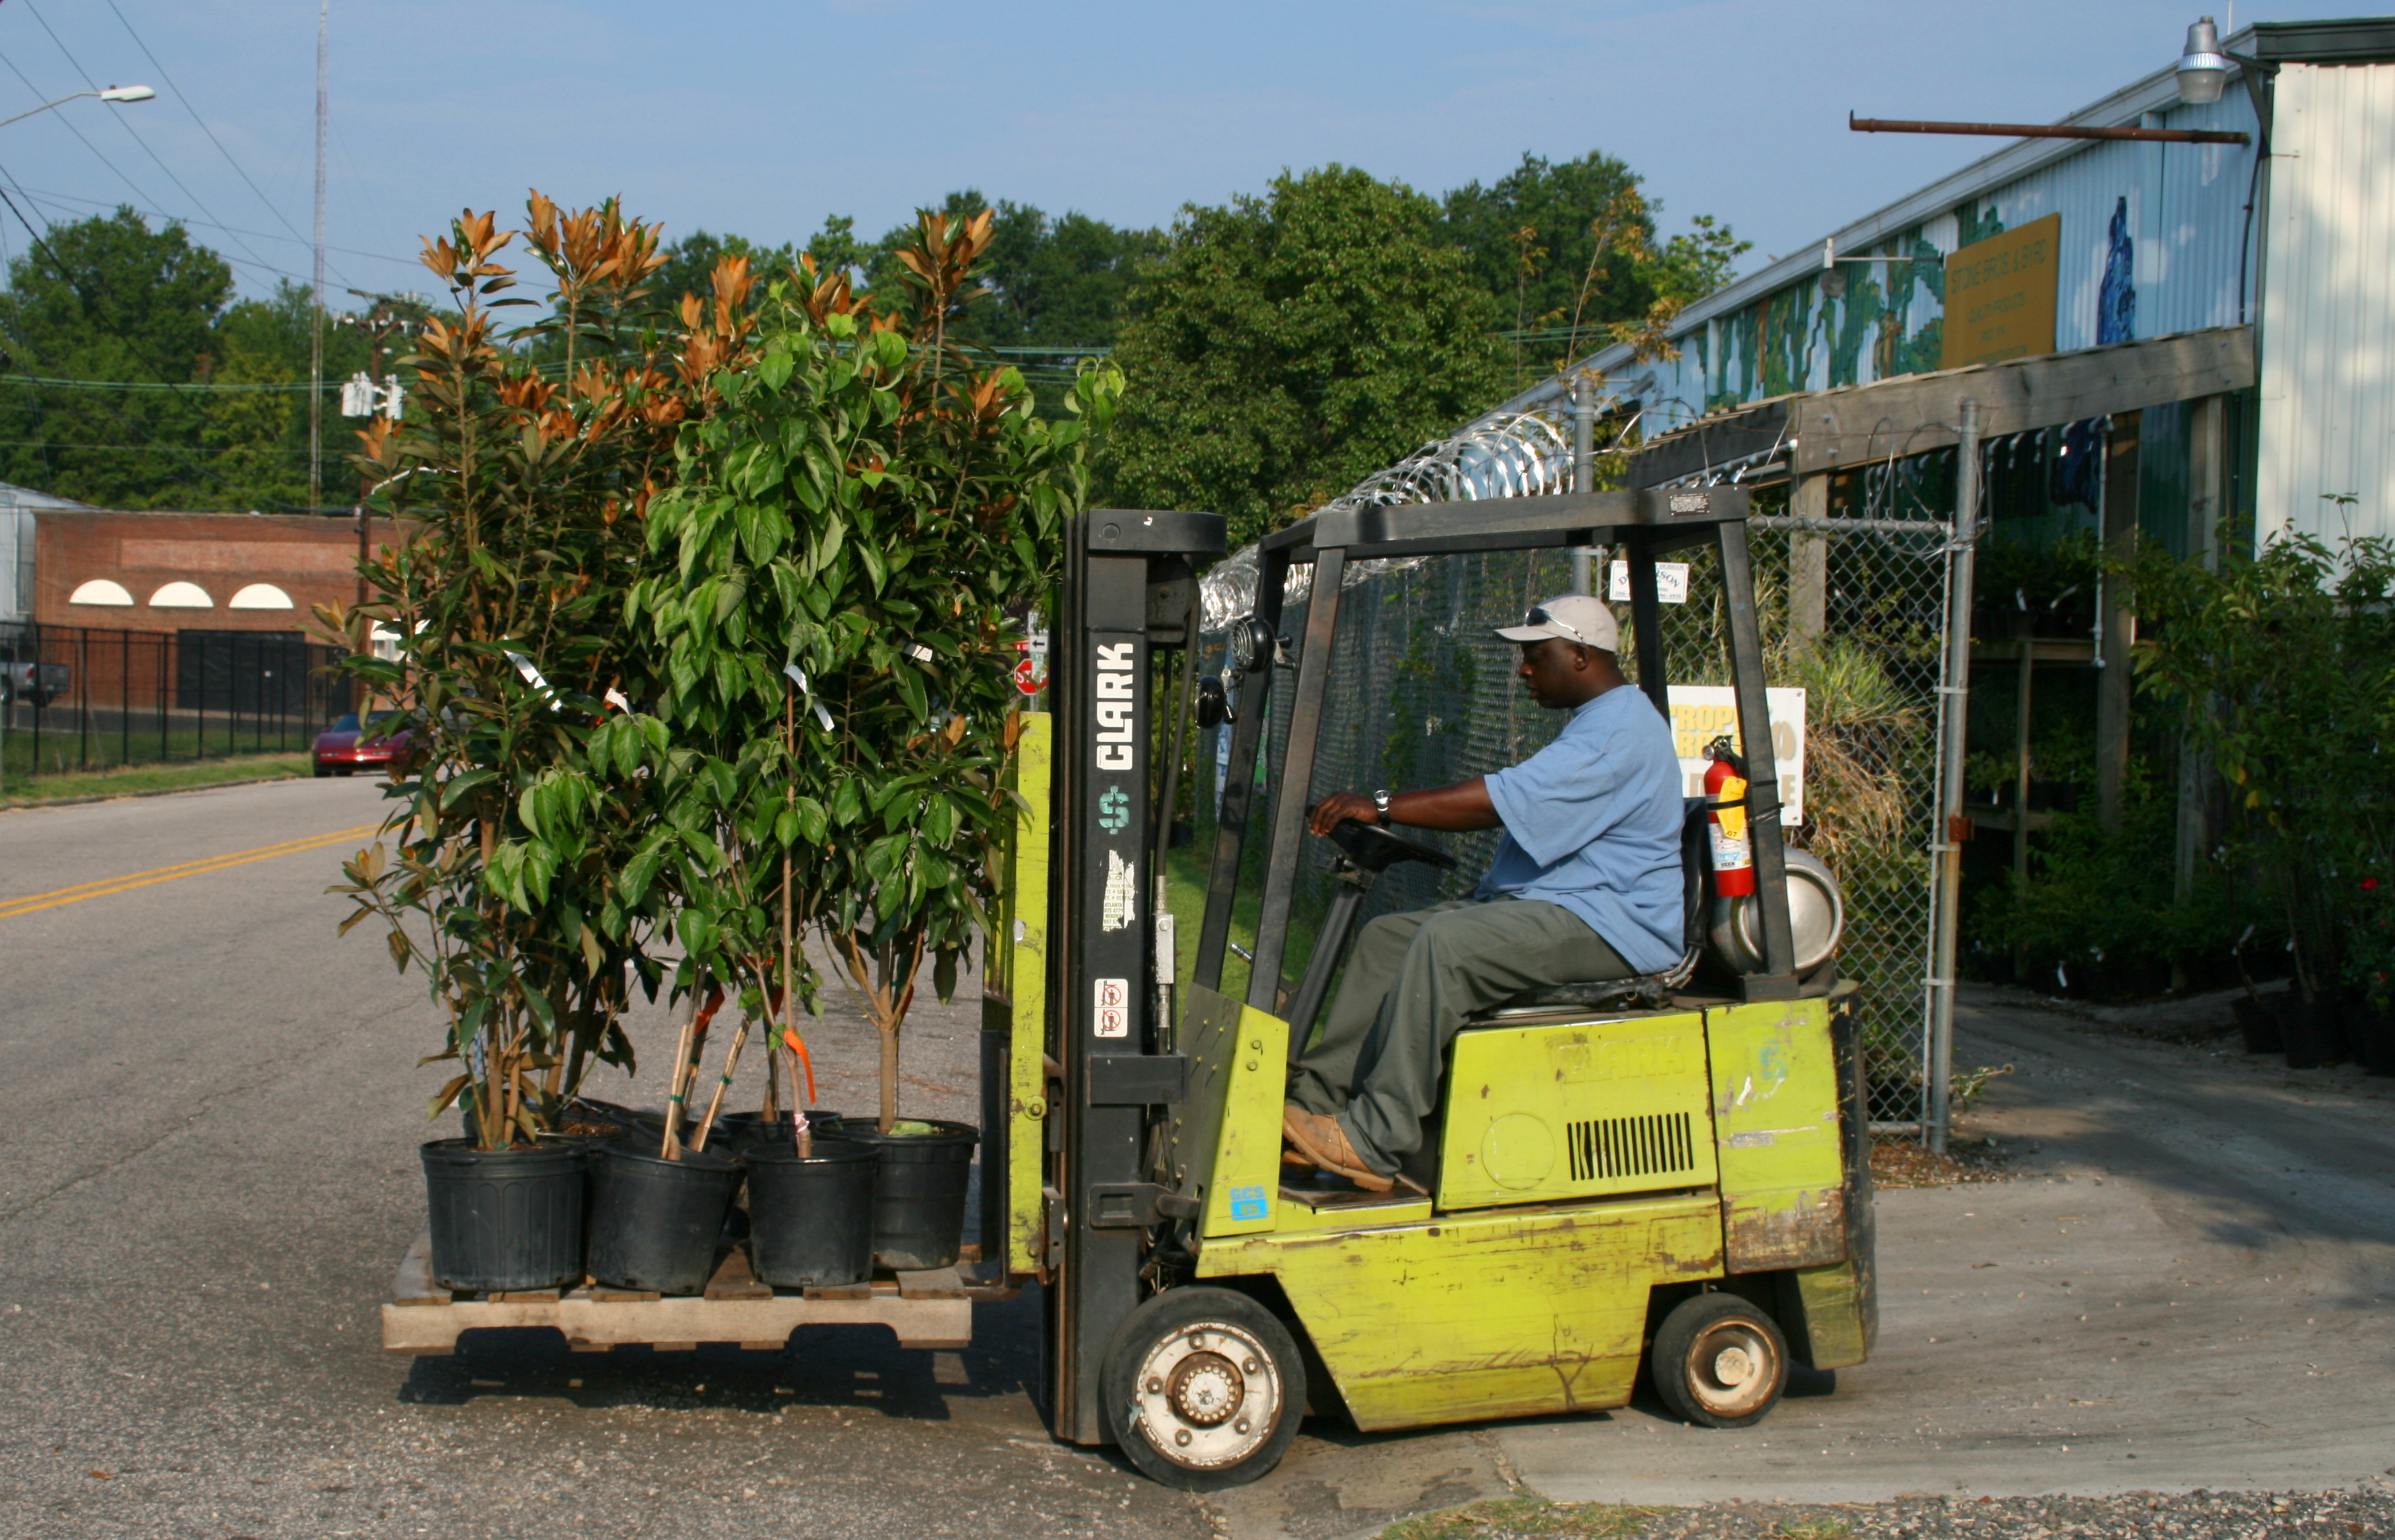
{"label": "white corrugated metal wall at the upper right edge", "polygon": [[2261,304],[2263,536],[2395,534],[2390,146],[2395,65],[2280,72]]}

